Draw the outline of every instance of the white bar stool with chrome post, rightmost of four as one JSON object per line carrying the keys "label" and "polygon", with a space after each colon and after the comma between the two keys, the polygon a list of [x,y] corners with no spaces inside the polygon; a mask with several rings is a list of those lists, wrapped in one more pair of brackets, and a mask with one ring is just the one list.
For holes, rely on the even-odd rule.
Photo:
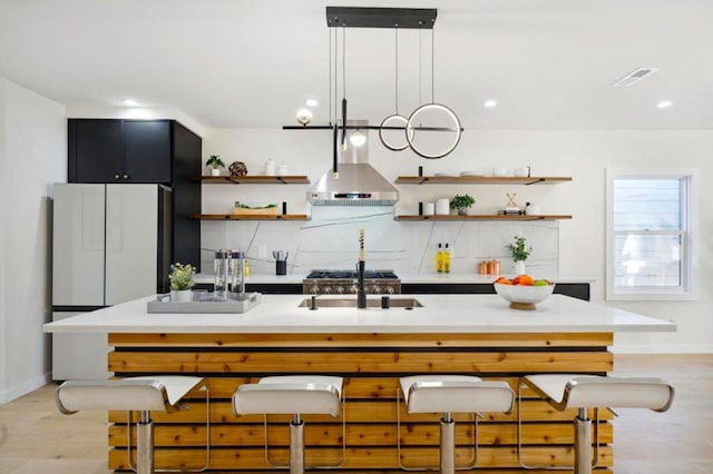
{"label": "white bar stool with chrome post, rightmost of four", "polygon": [[[528,375],[520,378],[518,399],[521,402],[522,387],[528,386],[549,405],[558,411],[578,408],[574,419],[575,427],[575,474],[589,474],[596,467],[599,457],[597,429],[596,452],[592,455],[592,419],[588,408],[649,408],[665,412],[673,403],[674,388],[661,378],[608,377],[582,374]],[[521,411],[518,403],[517,452],[520,465],[525,468],[570,470],[570,466],[526,465],[521,456]],[[614,413],[614,412],[613,412]],[[616,413],[615,413],[616,415]]]}

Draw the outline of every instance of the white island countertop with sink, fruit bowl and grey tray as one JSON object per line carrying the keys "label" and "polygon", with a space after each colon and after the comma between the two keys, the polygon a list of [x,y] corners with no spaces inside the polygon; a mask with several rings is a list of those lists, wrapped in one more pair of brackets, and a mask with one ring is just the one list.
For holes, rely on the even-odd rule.
{"label": "white island countertop with sink, fruit bowl and grey tray", "polygon": [[[674,323],[598,303],[551,295],[535,310],[498,295],[393,295],[413,309],[297,307],[305,295],[263,295],[244,314],[147,313],[146,297],[45,325],[47,333],[618,333],[675,332]],[[338,298],[322,295],[320,300]],[[381,299],[370,295],[369,299]]]}

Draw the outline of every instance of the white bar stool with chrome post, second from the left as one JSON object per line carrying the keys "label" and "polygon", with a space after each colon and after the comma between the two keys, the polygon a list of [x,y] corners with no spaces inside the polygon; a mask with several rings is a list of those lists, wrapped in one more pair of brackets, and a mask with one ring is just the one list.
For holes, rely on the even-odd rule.
{"label": "white bar stool with chrome post, second from the left", "polygon": [[236,415],[264,415],[265,458],[274,467],[270,457],[267,441],[267,415],[292,415],[290,423],[290,472],[304,472],[304,421],[301,414],[329,414],[334,417],[342,407],[342,457],[335,465],[307,467],[340,467],[346,451],[346,425],[343,413],[342,377],[325,375],[283,375],[263,377],[256,384],[243,384],[233,394],[233,411]]}

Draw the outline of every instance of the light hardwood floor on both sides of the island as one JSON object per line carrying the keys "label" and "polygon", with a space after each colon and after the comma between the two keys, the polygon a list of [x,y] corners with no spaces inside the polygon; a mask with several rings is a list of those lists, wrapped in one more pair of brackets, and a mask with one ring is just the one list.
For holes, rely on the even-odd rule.
{"label": "light hardwood floor on both sides of the island", "polygon": [[[676,387],[663,414],[618,409],[616,474],[713,473],[713,354],[617,355],[614,375],[660,376]],[[61,415],[47,385],[0,405],[0,473],[105,474],[106,415]]]}

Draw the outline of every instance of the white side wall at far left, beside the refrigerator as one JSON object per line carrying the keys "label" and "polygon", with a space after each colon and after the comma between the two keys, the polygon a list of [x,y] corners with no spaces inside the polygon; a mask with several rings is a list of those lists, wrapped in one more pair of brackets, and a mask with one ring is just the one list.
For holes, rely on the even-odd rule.
{"label": "white side wall at far left, beside the refrigerator", "polygon": [[51,319],[51,185],[67,180],[65,107],[0,79],[0,403],[48,381]]}

